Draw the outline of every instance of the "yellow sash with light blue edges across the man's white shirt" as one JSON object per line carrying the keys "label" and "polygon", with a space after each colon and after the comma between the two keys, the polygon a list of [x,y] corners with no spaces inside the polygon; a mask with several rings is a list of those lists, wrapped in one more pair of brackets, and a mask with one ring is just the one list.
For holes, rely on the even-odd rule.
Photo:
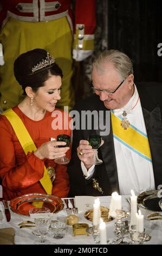
{"label": "yellow sash with light blue edges across the man's white shirt", "polygon": [[150,145],[148,143],[147,136],[129,127],[124,130],[121,127],[121,120],[111,112],[113,136],[118,139],[122,144],[126,145],[127,148],[133,150],[135,153],[144,157],[148,161],[152,162]]}

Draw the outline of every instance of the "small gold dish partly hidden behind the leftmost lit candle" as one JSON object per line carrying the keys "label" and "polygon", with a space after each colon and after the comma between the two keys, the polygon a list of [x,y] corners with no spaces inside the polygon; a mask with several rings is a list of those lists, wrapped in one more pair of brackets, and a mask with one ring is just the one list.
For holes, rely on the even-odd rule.
{"label": "small gold dish partly hidden behind the leftmost lit candle", "polygon": [[[108,217],[109,209],[105,206],[100,206],[101,209],[101,218],[104,222],[109,222],[114,220],[112,217]],[[85,212],[84,217],[86,220],[93,222],[93,209],[89,209]]]}

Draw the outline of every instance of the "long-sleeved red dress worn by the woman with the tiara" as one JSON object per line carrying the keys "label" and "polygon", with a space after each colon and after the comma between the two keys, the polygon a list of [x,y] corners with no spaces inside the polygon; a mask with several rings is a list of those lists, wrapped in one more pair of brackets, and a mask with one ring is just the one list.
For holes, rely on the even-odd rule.
{"label": "long-sleeved red dress worn by the woman with the tiara", "polygon": [[[56,138],[59,134],[64,133],[71,136],[69,128],[68,130],[52,129],[55,117],[51,117],[52,113],[50,112],[46,112],[42,120],[34,121],[28,118],[18,106],[12,109],[22,119],[37,148],[42,143],[50,141],[51,137]],[[63,118],[64,113],[61,112]],[[70,150],[66,155],[70,157]],[[10,200],[26,193],[46,193],[39,181],[43,177],[44,164],[46,167],[53,166],[56,169],[52,194],[67,197],[69,191],[67,166],[56,164],[54,160],[41,160],[30,152],[26,156],[8,119],[4,115],[0,115],[0,178],[3,186],[3,198]]]}

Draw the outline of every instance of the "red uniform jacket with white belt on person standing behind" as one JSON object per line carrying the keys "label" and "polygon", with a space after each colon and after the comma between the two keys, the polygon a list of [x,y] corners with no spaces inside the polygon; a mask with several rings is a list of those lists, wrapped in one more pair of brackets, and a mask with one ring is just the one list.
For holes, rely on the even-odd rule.
{"label": "red uniform jacket with white belt on person standing behind", "polygon": [[[0,3],[0,27],[4,27],[10,17],[20,21],[41,22],[66,16],[74,31],[74,50],[93,50],[95,0],[76,0],[74,20],[70,0],[1,0]],[[87,54],[83,52],[81,55],[87,57]],[[76,52],[73,57],[77,58]]]}

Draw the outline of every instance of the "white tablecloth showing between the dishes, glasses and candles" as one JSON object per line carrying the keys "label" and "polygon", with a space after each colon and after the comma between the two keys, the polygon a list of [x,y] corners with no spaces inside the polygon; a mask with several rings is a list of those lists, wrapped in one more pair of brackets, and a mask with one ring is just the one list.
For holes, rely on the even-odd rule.
{"label": "white tablecloth showing between the dishes, glasses and candles", "polygon": [[[90,197],[92,198],[92,197]],[[99,197],[100,203],[103,206],[109,208],[109,204],[111,202],[111,197]],[[122,196],[122,209],[129,211],[130,205],[128,204],[126,198],[128,196]],[[77,197],[77,202],[81,202],[84,205],[85,209],[79,211],[79,223],[88,223],[89,227],[92,226],[92,222],[86,220],[84,217],[85,212],[88,209],[92,209],[92,202],[87,204],[85,200],[88,200],[88,197]],[[62,199],[64,201],[64,199]],[[76,200],[76,198],[75,198]],[[76,202],[76,201],[75,201]],[[9,202],[8,202],[9,203]],[[72,205],[69,202],[69,207],[72,208]],[[80,208],[79,208],[80,209]],[[16,245],[33,245],[34,241],[37,239],[35,235],[31,233],[32,228],[22,228],[18,226],[18,223],[23,222],[25,220],[30,220],[28,216],[18,215],[11,211],[11,220],[7,222],[4,214],[4,206],[3,203],[0,202],[0,210],[3,213],[3,220],[0,221],[0,228],[9,228],[12,227],[15,230],[15,244]],[[147,220],[147,215],[151,214],[150,210],[141,209],[142,214],[144,214],[144,227],[145,231],[152,236],[150,241],[145,242],[147,245],[160,245],[162,244],[162,220]],[[56,213],[60,216],[66,216],[66,209],[63,209]],[[114,235],[114,220],[111,222],[106,222],[106,230],[107,230],[107,239],[115,238]],[[63,239],[54,239],[51,234],[47,234],[47,239],[50,241],[51,245],[94,245],[93,236],[90,235],[73,235],[73,227],[67,225],[67,235]]]}

